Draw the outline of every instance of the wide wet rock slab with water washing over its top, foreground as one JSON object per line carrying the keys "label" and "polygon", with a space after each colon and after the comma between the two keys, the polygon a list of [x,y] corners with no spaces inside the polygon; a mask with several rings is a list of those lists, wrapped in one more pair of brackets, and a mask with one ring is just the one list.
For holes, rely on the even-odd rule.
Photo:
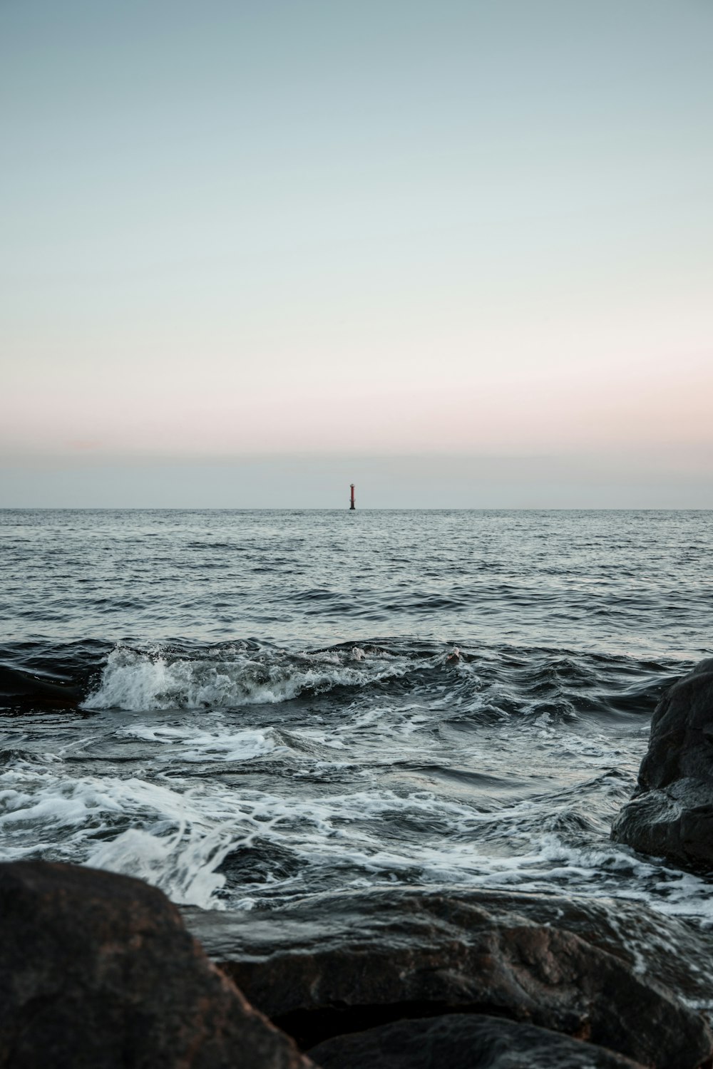
{"label": "wide wet rock slab with water washing over its top, foreground", "polygon": [[[279,913],[186,915],[250,1002],[306,1048],[467,1011],[661,1069],[693,1069],[712,1051],[706,1022],[667,983],[710,1001],[711,947],[639,903],[389,888],[314,896]],[[672,949],[679,936],[691,969]]]}

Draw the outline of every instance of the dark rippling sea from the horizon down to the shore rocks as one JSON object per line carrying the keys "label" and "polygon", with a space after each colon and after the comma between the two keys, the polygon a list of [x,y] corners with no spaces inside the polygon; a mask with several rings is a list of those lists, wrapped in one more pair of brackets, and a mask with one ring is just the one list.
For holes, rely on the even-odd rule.
{"label": "dark rippling sea from the horizon down to the shore rocks", "polygon": [[[711,512],[0,512],[0,856],[269,908],[394,882],[641,898],[611,843],[713,648]],[[456,652],[458,651],[458,652]]]}

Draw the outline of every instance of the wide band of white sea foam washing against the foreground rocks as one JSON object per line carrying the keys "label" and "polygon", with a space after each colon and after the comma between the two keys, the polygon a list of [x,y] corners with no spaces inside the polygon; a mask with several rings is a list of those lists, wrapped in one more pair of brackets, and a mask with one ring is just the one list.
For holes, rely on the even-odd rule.
{"label": "wide band of white sea foam washing against the foreground rocks", "polygon": [[[206,909],[249,909],[265,895],[305,893],[341,872],[345,882],[368,885],[396,879],[609,894],[713,924],[706,881],[605,839],[578,846],[554,832],[532,834],[540,812],[533,799],[481,811],[428,790],[398,793],[375,779],[362,790],[298,797],[236,791],[219,778],[188,789],[181,779],[69,778],[61,764],[42,770],[29,762],[5,769],[2,785],[3,858],[90,864]],[[268,873],[248,895],[238,885],[228,897],[221,863],[255,842],[267,858],[293,857],[296,869]]]}

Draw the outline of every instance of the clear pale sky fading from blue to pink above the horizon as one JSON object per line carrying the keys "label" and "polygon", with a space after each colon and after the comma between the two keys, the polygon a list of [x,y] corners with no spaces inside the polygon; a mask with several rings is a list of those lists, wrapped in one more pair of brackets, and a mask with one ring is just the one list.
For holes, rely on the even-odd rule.
{"label": "clear pale sky fading from blue to pink above the horizon", "polygon": [[710,0],[0,0],[0,507],[713,508]]}

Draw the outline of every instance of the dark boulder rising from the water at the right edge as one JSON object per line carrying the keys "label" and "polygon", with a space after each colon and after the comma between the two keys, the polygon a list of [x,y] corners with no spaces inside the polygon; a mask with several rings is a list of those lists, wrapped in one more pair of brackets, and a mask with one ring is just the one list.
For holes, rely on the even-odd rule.
{"label": "dark boulder rising from the water at the right edge", "polygon": [[713,870],[713,660],[658,702],[636,790],[611,837],[682,868]]}

